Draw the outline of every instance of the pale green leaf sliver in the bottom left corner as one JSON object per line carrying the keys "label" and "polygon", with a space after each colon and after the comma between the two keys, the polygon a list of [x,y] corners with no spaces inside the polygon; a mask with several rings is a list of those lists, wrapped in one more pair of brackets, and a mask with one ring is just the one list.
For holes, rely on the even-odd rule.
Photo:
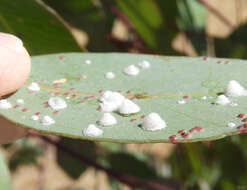
{"label": "pale green leaf sliver in the bottom left corner", "polygon": [[0,189],[10,190],[9,172],[0,149]]}

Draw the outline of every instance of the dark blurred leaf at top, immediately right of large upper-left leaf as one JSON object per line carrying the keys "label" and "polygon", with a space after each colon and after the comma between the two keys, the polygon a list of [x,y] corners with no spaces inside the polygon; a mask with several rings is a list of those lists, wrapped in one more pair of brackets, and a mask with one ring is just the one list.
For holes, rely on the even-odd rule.
{"label": "dark blurred leaf at top, immediately right of large upper-left leaf", "polygon": [[89,38],[89,51],[116,50],[107,40],[111,33],[113,16],[92,0],[44,0],[72,26],[85,31]]}

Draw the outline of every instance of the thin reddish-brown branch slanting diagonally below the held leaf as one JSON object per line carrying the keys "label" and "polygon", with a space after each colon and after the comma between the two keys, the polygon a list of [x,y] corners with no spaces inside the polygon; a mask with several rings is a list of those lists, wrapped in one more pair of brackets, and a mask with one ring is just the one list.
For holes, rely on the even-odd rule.
{"label": "thin reddish-brown branch slanting diagonally below the held leaf", "polygon": [[40,135],[40,134],[35,133],[35,132],[29,132],[29,135],[32,137],[39,137],[39,138],[43,139],[44,141],[54,145],[55,147],[57,147],[58,149],[60,149],[61,151],[65,152],[65,153],[67,153],[68,155],[74,157],[75,159],[78,159],[87,165],[93,166],[94,168],[96,168],[98,170],[102,170],[102,171],[106,172],[109,176],[116,178],[120,182],[125,183],[125,184],[129,185],[130,187],[142,188],[142,189],[148,189],[148,190],[174,190],[173,188],[165,187],[164,185],[157,183],[157,182],[142,180],[142,179],[134,177],[134,176],[120,174],[120,173],[118,173],[112,169],[106,168],[106,167],[86,158],[85,156],[83,156],[82,154],[80,154],[78,152],[74,152],[74,151],[70,150],[69,148],[59,144],[59,142],[57,142],[56,140],[53,140],[52,138],[50,138],[48,136]]}

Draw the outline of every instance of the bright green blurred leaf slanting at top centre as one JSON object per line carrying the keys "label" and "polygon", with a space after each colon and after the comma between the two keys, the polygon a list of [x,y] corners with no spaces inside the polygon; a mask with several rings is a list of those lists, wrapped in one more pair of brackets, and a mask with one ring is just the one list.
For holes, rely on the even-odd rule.
{"label": "bright green blurred leaf slanting at top centre", "polygon": [[117,0],[118,7],[129,18],[142,40],[155,52],[175,54],[171,41],[176,32],[164,25],[161,10],[150,0]]}

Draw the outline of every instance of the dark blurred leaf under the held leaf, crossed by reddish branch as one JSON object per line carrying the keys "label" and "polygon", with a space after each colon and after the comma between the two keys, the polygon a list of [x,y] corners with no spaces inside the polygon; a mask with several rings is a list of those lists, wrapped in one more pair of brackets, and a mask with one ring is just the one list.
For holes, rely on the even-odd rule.
{"label": "dark blurred leaf under the held leaf, crossed by reddish branch", "polygon": [[[74,152],[83,152],[83,155],[92,161],[96,160],[95,145],[93,142],[62,138],[59,144]],[[80,160],[71,157],[60,149],[57,150],[57,161],[60,167],[74,179],[77,179],[88,167]]]}

